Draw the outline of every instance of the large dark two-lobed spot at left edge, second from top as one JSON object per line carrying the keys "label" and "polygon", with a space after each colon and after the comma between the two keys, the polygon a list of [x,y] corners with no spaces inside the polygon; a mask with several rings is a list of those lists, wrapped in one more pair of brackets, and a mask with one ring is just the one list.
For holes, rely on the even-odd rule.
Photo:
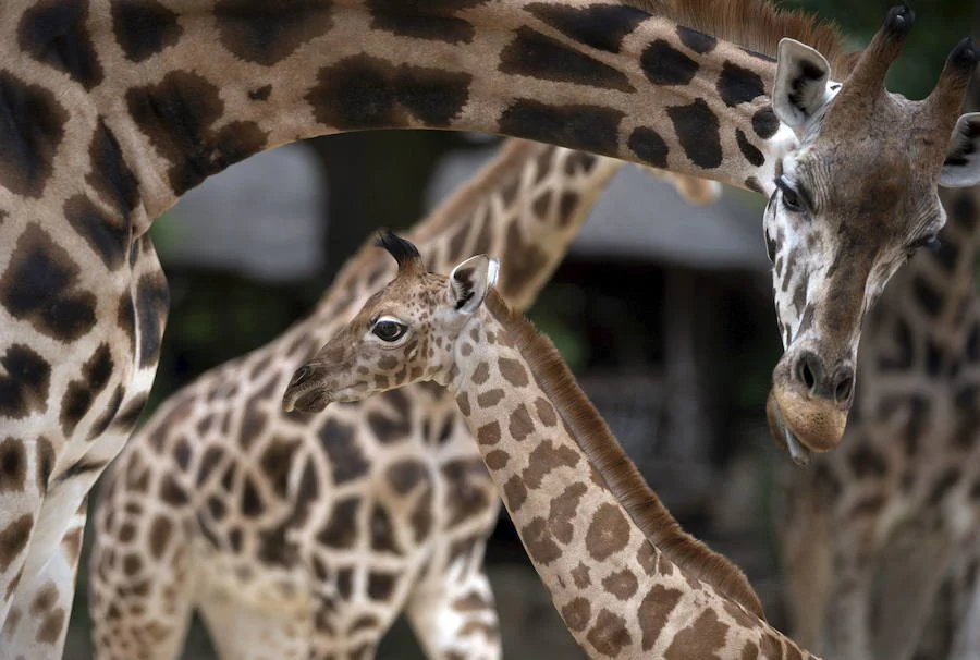
{"label": "large dark two-lobed spot at left edge, second from top", "polygon": [[0,304],[42,334],[76,340],[95,326],[96,297],[78,288],[81,271],[68,250],[29,224],[0,277]]}

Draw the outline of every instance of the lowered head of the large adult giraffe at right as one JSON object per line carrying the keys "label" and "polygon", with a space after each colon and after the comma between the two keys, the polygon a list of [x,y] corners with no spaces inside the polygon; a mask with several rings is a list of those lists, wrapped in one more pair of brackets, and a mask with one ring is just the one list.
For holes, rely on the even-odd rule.
{"label": "lowered head of the large adult giraffe at right", "polygon": [[843,83],[816,50],[780,42],[773,111],[798,145],[777,163],[763,220],[785,349],[767,413],[799,463],[841,440],[865,314],[915,250],[936,244],[936,186],[980,181],[980,114],[957,121],[980,59],[971,40],[953,49],[926,99],[884,87],[912,19],[889,11]]}

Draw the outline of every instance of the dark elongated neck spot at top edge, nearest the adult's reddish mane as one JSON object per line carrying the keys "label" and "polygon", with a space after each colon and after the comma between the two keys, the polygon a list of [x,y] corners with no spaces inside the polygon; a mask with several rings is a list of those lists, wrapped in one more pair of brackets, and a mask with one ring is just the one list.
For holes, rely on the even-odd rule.
{"label": "dark elongated neck spot at top edge, nearest the adult's reddish mane", "polygon": [[650,17],[642,10],[614,4],[576,8],[535,2],[525,9],[579,44],[607,52],[620,52],[623,38]]}

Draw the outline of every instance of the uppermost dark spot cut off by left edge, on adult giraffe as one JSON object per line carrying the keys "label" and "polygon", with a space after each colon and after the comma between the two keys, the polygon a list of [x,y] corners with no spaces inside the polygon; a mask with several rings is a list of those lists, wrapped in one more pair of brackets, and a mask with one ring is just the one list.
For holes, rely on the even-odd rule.
{"label": "uppermost dark spot cut off by left edge, on adult giraffe", "polygon": [[40,197],[68,118],[51,90],[0,71],[0,185],[15,195]]}

